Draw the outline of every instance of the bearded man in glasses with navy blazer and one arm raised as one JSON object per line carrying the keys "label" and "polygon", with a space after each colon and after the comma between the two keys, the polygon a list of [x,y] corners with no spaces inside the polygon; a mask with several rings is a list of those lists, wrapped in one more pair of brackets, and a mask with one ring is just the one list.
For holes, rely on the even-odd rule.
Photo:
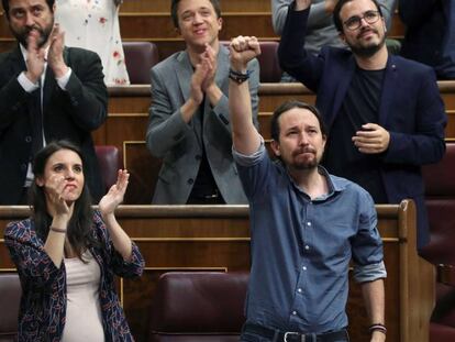
{"label": "bearded man in glasses with navy blazer and one arm raised", "polygon": [[429,242],[421,165],[445,151],[446,115],[432,68],[389,55],[376,0],[340,0],[335,26],[351,51],[303,46],[311,0],[291,3],[279,47],[281,67],[317,92],[329,126],[324,166],[367,189],[376,203],[411,198],[418,246]]}

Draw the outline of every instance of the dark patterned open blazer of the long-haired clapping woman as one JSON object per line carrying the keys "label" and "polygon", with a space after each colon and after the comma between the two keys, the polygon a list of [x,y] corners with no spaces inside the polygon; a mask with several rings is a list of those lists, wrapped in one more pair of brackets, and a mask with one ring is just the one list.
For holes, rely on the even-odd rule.
{"label": "dark patterned open blazer of the long-haired clapping woman", "polygon": [[[134,341],[115,291],[114,275],[126,278],[142,275],[144,260],[133,242],[131,261],[123,261],[113,247],[99,211],[93,214],[92,227],[91,232],[99,245],[89,247],[89,251],[101,272],[99,300],[106,341]],[[37,235],[33,219],[9,223],[4,243],[21,279],[19,341],[60,341],[66,319],[65,262],[57,268],[51,261],[43,250],[45,239]]]}

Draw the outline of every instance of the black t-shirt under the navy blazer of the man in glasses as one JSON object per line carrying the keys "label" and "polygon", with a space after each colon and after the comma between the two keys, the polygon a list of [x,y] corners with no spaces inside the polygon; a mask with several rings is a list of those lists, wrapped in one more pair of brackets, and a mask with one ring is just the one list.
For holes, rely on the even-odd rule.
{"label": "black t-shirt under the navy blazer of the man in glasses", "polygon": [[388,202],[380,176],[381,154],[358,152],[352,136],[363,124],[378,123],[382,78],[384,69],[356,69],[341,111],[331,126],[322,163],[331,174],[365,188],[376,203]]}

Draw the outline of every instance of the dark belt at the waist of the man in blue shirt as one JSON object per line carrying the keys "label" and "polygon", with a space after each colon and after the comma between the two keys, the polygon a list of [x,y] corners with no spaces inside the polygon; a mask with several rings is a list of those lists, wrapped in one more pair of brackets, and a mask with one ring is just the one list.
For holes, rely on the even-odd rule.
{"label": "dark belt at the waist of the man in blue shirt", "polygon": [[[270,341],[274,340],[276,331],[263,326],[245,323],[243,331],[252,332],[263,338],[266,338]],[[345,340],[348,341],[348,335],[346,329],[325,332],[325,333],[304,333],[297,331],[279,331],[278,339],[275,341],[282,342],[334,342]]]}

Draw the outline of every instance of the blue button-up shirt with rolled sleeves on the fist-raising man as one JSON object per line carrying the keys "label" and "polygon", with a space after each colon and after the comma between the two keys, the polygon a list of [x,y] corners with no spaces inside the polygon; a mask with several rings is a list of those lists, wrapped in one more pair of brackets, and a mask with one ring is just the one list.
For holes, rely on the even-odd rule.
{"label": "blue button-up shirt with rolled sleeves on the fist-raising man", "polygon": [[371,197],[320,167],[330,190],[311,199],[264,143],[252,156],[233,154],[251,210],[247,321],[315,333],[345,328],[351,258],[357,282],[386,277]]}

